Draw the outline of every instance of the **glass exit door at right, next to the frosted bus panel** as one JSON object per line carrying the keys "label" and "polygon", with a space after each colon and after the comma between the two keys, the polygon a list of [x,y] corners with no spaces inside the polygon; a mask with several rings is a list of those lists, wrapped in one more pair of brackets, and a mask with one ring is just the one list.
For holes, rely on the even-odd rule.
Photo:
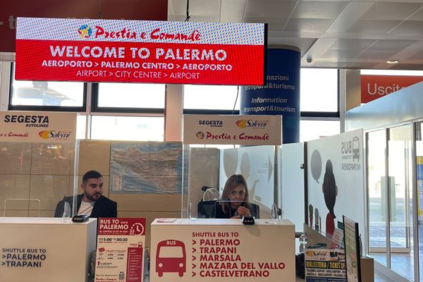
{"label": "glass exit door at right, next to the frosted bus panel", "polygon": [[367,133],[369,254],[410,280],[414,280],[412,167],[412,124]]}

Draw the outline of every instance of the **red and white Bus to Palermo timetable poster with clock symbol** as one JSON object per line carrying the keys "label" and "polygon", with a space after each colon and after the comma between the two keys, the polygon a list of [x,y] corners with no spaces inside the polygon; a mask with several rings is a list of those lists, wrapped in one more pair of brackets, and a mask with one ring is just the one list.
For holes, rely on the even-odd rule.
{"label": "red and white Bus to Palermo timetable poster with clock symbol", "polygon": [[144,280],[145,218],[100,218],[94,282]]}

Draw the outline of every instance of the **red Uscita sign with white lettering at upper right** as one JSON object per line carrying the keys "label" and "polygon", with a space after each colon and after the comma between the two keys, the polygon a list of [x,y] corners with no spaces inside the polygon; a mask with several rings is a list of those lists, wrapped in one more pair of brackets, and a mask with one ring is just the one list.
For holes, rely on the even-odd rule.
{"label": "red Uscita sign with white lettering at upper right", "polygon": [[361,102],[367,103],[423,81],[423,76],[361,75]]}

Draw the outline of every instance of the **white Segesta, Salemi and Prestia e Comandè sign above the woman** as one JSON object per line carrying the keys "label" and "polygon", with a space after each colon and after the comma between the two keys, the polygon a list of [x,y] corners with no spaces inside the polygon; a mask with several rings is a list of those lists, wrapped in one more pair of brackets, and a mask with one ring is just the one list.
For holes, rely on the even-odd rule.
{"label": "white Segesta, Salemi and Prestia e Comand\u00e8 sign above the woman", "polygon": [[281,145],[282,116],[184,115],[183,143]]}

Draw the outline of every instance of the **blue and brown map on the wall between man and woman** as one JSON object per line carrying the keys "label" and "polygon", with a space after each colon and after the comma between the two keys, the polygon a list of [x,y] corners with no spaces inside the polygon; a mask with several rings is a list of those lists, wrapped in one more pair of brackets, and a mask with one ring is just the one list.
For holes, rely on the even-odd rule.
{"label": "blue and brown map on the wall between man and woman", "polygon": [[178,194],[182,187],[181,142],[112,142],[112,193]]}

